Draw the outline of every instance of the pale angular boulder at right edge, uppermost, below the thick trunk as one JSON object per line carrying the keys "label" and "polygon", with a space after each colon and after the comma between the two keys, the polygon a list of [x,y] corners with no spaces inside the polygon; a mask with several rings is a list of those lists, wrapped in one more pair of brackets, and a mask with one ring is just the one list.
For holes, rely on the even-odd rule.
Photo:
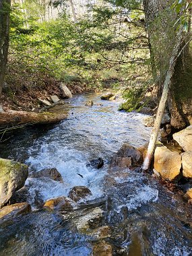
{"label": "pale angular boulder at right edge, uppermost, below the thick trunk", "polygon": [[174,133],[172,137],[179,143],[184,151],[192,151],[192,125],[178,133]]}

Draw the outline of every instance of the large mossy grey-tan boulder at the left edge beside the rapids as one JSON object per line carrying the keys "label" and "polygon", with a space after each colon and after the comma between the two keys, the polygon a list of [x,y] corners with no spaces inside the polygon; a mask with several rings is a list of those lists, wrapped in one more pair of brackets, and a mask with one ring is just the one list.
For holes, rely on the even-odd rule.
{"label": "large mossy grey-tan boulder at the left edge beside the rapids", "polygon": [[0,158],[0,207],[21,189],[28,178],[28,166]]}

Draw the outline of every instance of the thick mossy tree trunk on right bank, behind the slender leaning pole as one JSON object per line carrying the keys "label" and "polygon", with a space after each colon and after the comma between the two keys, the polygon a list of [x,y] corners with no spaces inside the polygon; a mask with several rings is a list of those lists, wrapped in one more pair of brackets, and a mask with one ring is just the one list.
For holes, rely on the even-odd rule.
{"label": "thick mossy tree trunk on right bank, behind the slender leaning pole", "polygon": [[[174,0],[143,0],[150,45],[154,54],[153,70],[155,66],[160,94],[177,41],[178,15],[171,7],[172,3]],[[191,26],[190,22],[189,25]],[[177,58],[166,104],[173,131],[192,123],[192,47],[187,33],[183,38],[185,39],[180,49],[183,51]]]}

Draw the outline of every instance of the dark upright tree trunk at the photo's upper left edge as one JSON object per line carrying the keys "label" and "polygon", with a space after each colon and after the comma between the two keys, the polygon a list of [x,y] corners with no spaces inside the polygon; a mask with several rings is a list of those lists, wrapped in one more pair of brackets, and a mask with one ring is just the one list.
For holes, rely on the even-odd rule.
{"label": "dark upright tree trunk at the photo's upper left edge", "polygon": [[11,0],[0,0],[0,104],[9,49],[10,7]]}

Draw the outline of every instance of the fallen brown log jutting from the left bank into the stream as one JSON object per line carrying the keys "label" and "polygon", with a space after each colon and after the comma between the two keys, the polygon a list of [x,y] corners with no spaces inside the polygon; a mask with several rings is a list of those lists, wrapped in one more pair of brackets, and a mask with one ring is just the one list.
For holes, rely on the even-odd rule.
{"label": "fallen brown log jutting from the left bank into the stream", "polygon": [[24,124],[57,123],[67,117],[67,113],[8,110],[0,113],[0,127],[15,127]]}

